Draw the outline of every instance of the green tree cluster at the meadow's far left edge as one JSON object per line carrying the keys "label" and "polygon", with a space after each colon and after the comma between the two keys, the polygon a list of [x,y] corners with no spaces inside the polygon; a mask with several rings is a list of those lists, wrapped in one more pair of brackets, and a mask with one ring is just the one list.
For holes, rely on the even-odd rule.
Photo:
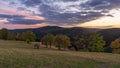
{"label": "green tree cluster at the meadow's far left edge", "polygon": [[19,33],[11,33],[8,29],[3,28],[0,31],[0,39],[3,40],[16,40],[16,41],[25,41],[27,43],[35,41],[35,34],[32,31],[26,31],[22,34]]}

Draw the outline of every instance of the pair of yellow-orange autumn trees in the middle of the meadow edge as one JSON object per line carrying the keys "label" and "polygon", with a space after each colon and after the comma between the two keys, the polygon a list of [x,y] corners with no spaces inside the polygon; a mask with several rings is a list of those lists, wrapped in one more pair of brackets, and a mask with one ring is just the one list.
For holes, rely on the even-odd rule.
{"label": "pair of yellow-orange autumn trees in the middle of the meadow edge", "polygon": [[66,49],[67,46],[71,45],[70,39],[66,35],[52,35],[47,34],[42,38],[42,44],[46,45],[46,47],[56,46],[59,50],[61,48]]}

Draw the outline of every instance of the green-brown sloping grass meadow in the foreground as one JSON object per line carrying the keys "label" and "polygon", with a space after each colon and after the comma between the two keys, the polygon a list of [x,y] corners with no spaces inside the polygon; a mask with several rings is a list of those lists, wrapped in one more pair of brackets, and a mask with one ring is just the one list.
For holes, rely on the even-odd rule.
{"label": "green-brown sloping grass meadow in the foreground", "polygon": [[0,40],[0,68],[120,68],[120,54],[33,49]]}

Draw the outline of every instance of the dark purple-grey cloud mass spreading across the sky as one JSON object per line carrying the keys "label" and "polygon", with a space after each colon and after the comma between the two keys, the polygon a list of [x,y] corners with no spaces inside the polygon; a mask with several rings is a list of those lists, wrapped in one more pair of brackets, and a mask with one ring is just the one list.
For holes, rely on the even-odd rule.
{"label": "dark purple-grey cloud mass spreading across the sky", "polygon": [[[106,15],[111,9],[120,7],[120,0],[20,0],[26,7],[37,8],[44,21],[29,20],[19,16],[12,16],[9,20],[13,24],[37,24],[48,22],[54,24],[78,24],[98,19]],[[24,7],[19,7],[25,10]],[[34,12],[33,12],[34,13]],[[34,13],[35,14],[35,13]],[[5,17],[5,16],[1,16]],[[10,16],[6,16],[10,17]]]}

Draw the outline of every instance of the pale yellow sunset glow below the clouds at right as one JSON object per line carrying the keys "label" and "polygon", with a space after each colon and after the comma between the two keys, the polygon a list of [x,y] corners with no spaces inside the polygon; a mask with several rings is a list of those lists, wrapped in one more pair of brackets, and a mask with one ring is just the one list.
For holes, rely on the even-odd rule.
{"label": "pale yellow sunset glow below the clouds at right", "polygon": [[111,16],[101,17],[97,20],[77,24],[76,26],[87,28],[120,28],[120,9],[113,9],[108,14]]}

